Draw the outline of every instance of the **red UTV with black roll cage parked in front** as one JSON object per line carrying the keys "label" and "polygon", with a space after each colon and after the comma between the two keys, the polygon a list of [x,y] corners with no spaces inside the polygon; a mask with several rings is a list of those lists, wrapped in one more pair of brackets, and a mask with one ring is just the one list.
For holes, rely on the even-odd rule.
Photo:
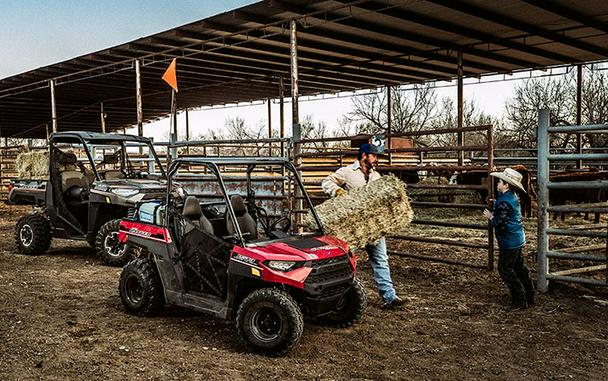
{"label": "red UTV with black roll cage parked in front", "polygon": [[[120,276],[127,310],[146,315],[169,304],[235,319],[245,344],[267,355],[297,344],[304,317],[337,327],[361,318],[356,258],[324,234],[291,163],[177,159],[167,189],[176,179],[187,195],[168,191],[120,223],[119,240],[138,255]],[[316,223],[310,231],[296,223],[303,202]]]}

